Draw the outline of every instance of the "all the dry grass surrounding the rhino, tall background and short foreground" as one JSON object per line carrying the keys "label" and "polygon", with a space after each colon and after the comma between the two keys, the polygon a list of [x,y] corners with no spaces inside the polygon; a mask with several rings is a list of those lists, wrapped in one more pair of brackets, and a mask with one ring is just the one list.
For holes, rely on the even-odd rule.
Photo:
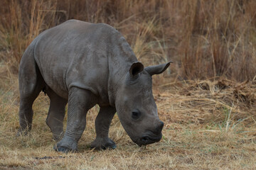
{"label": "all the dry grass surrounding the rhino, tall background and short foreground", "polygon": [[[255,7],[254,0],[1,0],[0,169],[256,169]],[[95,106],[78,153],[54,152],[43,93],[30,135],[15,137],[23,51],[70,18],[114,26],[146,65],[174,61],[171,72],[154,77],[161,142],[139,148],[115,116],[117,149],[89,149]]]}

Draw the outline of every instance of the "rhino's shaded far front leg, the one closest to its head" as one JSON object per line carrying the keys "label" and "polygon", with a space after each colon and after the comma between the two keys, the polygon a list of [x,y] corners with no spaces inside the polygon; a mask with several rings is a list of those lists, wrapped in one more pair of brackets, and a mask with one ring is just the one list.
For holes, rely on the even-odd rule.
{"label": "rhino's shaded far front leg, the one closest to its head", "polygon": [[101,106],[100,112],[95,120],[96,139],[92,142],[91,147],[95,149],[116,148],[115,143],[110,140],[108,133],[110,123],[116,112],[115,108],[110,106]]}

